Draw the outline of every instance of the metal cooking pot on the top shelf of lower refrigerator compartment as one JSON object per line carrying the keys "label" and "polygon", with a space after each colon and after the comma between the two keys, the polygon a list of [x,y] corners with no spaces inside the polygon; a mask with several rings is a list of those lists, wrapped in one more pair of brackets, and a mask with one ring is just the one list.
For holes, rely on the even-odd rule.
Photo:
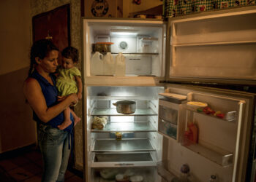
{"label": "metal cooking pot on the top shelf of lower refrigerator compartment", "polygon": [[113,103],[116,111],[121,114],[133,114],[136,111],[136,102],[132,100],[121,100]]}

